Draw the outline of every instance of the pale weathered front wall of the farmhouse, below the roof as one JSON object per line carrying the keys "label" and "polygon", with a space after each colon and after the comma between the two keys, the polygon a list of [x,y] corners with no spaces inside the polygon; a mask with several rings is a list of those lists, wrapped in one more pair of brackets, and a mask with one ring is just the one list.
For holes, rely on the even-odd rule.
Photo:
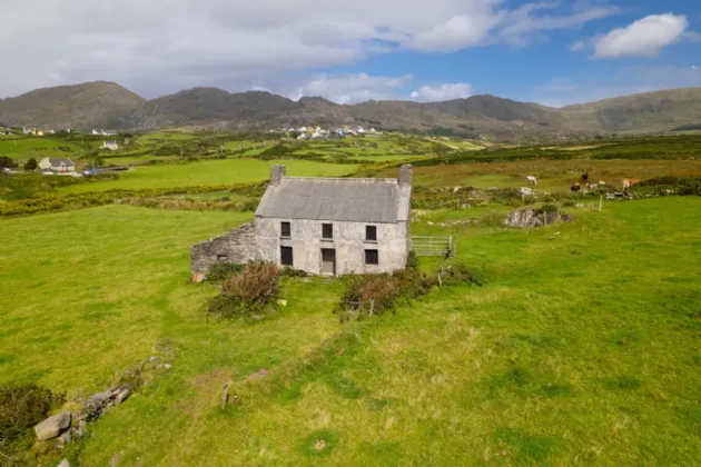
{"label": "pale weathered front wall of the farmhouse, below the roof", "polygon": [[[289,222],[292,235],[282,237],[282,222]],[[322,238],[322,225],[333,223],[334,238]],[[365,239],[365,227],[377,227],[377,240]],[[336,250],[336,274],[392,272],[406,267],[407,222],[372,223],[306,219],[256,219],[257,258],[280,264],[280,247],[293,248],[293,267],[322,274],[322,249]],[[378,265],[365,264],[365,250],[378,251]]]}

